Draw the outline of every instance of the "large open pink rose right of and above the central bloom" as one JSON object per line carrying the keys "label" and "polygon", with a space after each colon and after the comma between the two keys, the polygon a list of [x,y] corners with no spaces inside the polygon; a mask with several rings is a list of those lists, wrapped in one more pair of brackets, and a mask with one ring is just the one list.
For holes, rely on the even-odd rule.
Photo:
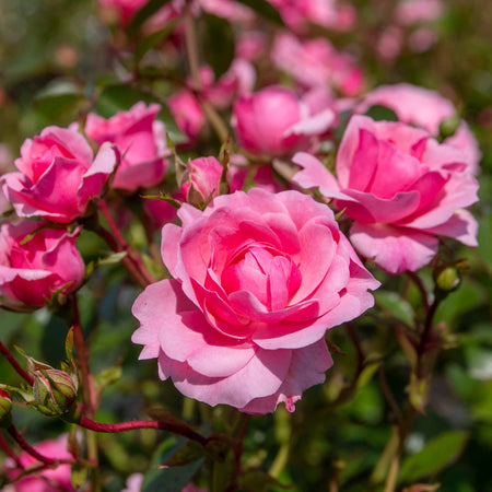
{"label": "large open pink rose right of and above the central bloom", "polygon": [[415,271],[437,253],[437,235],[477,245],[477,222],[462,208],[478,200],[477,180],[454,148],[401,122],[353,116],[337,155],[338,180],[300,153],[293,180],[318,187],[354,220],[355,249],[390,272]]}

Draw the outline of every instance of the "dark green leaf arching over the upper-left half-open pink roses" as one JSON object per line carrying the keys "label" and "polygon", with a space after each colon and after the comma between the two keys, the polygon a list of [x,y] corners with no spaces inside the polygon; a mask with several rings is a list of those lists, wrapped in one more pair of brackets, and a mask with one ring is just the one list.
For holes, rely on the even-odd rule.
{"label": "dark green leaf arching over the upper-left half-open pink roses", "polygon": [[145,104],[156,103],[161,105],[157,119],[164,122],[169,137],[176,143],[186,141],[186,137],[179,130],[176,120],[163,99],[153,97],[149,93],[139,91],[128,84],[107,85],[104,87],[96,103],[96,112],[101,116],[109,118],[118,112],[130,109],[131,106],[140,101],[143,101]]}

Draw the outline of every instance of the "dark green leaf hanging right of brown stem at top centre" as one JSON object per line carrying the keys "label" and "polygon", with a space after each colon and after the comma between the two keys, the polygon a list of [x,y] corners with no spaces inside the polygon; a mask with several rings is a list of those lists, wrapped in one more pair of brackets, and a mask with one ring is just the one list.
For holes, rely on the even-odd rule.
{"label": "dark green leaf hanging right of brown stem at top centre", "polygon": [[215,79],[219,79],[234,60],[234,32],[231,24],[222,17],[203,14],[202,19],[206,24],[203,57],[212,67]]}

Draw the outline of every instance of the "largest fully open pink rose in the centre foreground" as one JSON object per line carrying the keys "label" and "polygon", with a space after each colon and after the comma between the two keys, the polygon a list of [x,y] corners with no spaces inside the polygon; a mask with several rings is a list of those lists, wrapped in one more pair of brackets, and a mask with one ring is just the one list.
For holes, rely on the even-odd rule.
{"label": "largest fully open pink rose in the centre foreground", "polygon": [[157,358],[162,379],[211,406],[293,411],[332,364],[326,330],[371,307],[378,282],[330,209],[298,191],[253,188],[178,216],[162,231],[174,279],[133,304],[140,359]]}

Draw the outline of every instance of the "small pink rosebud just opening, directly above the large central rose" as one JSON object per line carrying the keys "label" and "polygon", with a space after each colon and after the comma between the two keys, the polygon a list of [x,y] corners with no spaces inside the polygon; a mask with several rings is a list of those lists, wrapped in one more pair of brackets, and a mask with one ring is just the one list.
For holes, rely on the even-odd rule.
{"label": "small pink rosebud just opening, directly above the large central rose", "polygon": [[189,160],[181,180],[181,194],[192,204],[203,204],[219,195],[223,167],[215,157]]}

